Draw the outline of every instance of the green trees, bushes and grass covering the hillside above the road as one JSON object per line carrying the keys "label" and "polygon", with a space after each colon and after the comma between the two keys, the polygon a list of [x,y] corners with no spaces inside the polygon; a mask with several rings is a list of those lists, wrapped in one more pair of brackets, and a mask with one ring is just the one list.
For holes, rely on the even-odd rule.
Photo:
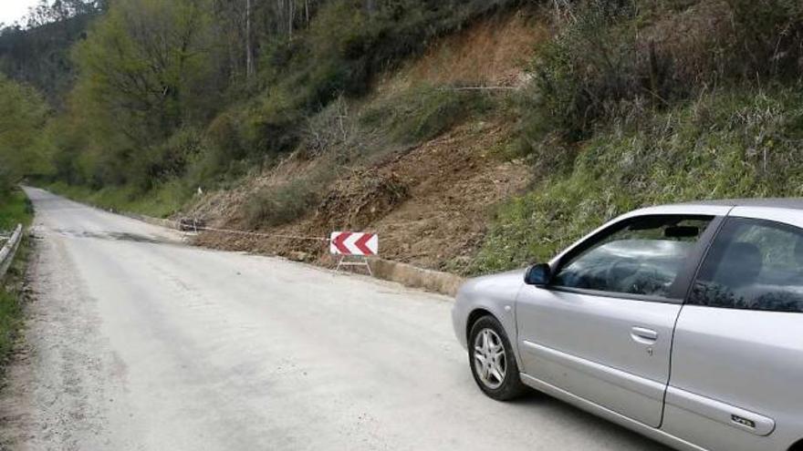
{"label": "green trees, bushes and grass covering the hillside above the road", "polygon": [[[36,33],[0,32],[0,69],[16,79],[0,79],[7,87],[0,96],[25,100],[11,103],[25,107],[12,116],[25,118],[15,129],[27,130],[4,147],[0,128],[0,159],[22,155],[8,149],[26,149],[24,161],[4,165],[16,168],[5,184],[27,177],[79,200],[153,216],[199,204],[203,210],[199,188],[228,191],[234,194],[222,199],[235,206],[224,214],[234,223],[225,225],[320,234],[324,227],[374,226],[411,200],[416,178],[400,179],[388,167],[410,152],[421,164],[441,165],[433,179],[444,185],[432,192],[462,181],[449,179],[448,170],[469,179],[488,169],[478,164],[495,169],[506,161],[526,166],[530,177],[518,178],[530,185],[522,190],[489,174],[494,184],[466,187],[477,198],[502,185],[516,192],[500,188],[488,198],[504,196],[482,227],[466,225],[476,220],[467,215],[454,237],[441,238],[464,240],[460,249],[442,252],[436,243],[401,254],[415,261],[434,253],[422,261],[464,274],[516,268],[547,260],[640,206],[803,195],[801,5],[65,0],[43,6],[32,19]],[[479,67],[470,48],[444,43],[482,46],[466,30],[492,28],[499,16],[524,17],[533,33],[504,38],[528,39],[531,51],[518,45],[500,54],[506,64],[526,58],[526,68],[522,77],[491,81],[500,61]],[[44,46],[47,33],[61,33],[56,42],[68,46],[42,47],[67,67],[57,89],[47,81],[56,75],[41,76],[45,63],[3,50],[12,40]],[[467,56],[438,54],[447,47]],[[411,68],[424,56],[454,64]],[[460,89],[485,84],[504,89]],[[448,168],[436,149],[424,152],[429,145],[464,149],[469,136],[487,139],[482,159],[454,149],[466,163]],[[476,207],[453,200],[432,203]],[[324,217],[349,208],[362,219],[354,220],[354,211]],[[411,236],[438,235],[427,218],[407,214],[404,227],[422,228]],[[449,222],[440,228],[452,231]],[[466,230],[472,234],[461,234]],[[391,246],[401,241],[398,233]]]}

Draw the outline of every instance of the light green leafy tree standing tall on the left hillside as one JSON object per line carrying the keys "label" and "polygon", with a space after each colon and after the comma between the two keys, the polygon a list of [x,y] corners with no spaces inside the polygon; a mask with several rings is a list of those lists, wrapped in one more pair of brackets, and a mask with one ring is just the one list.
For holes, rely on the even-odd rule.
{"label": "light green leafy tree standing tall on the left hillside", "polygon": [[[97,186],[160,177],[159,146],[220,108],[212,0],[117,0],[78,44],[70,113]],[[159,154],[159,155],[157,155]]]}

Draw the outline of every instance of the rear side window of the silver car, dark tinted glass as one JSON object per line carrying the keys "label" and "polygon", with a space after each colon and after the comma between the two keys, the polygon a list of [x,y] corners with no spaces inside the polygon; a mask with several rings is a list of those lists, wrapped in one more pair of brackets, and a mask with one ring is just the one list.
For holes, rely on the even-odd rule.
{"label": "rear side window of the silver car, dark tinted glass", "polygon": [[803,230],[729,218],[705,256],[688,303],[803,312]]}

